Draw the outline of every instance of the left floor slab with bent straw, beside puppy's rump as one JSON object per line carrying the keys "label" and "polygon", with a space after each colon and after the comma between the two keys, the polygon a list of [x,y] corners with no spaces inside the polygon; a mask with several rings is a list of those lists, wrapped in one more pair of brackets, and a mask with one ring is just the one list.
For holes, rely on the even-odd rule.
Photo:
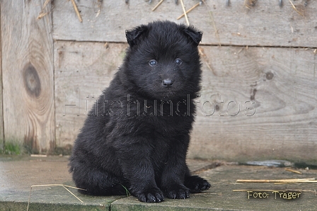
{"label": "left floor slab with bent straw, beside puppy's rump", "polygon": [[74,186],[68,172],[68,158],[58,156],[1,156],[0,210],[110,210],[110,204],[122,196],[107,198],[81,195],[68,188],[81,203],[62,186],[31,186],[64,184]]}

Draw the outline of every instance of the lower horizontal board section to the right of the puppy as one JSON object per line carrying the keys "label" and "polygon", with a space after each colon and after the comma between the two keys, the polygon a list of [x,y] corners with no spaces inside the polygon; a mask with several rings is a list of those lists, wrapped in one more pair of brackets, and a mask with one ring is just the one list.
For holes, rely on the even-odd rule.
{"label": "lower horizontal board section to the right of the puppy", "polygon": [[316,164],[313,50],[202,47],[202,52],[203,89],[190,157]]}

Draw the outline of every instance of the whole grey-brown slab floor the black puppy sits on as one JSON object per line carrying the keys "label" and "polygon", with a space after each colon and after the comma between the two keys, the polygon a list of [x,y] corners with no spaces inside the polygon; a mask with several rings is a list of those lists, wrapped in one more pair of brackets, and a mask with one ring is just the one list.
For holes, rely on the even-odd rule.
{"label": "whole grey-brown slab floor the black puppy sits on", "polygon": [[[62,186],[74,186],[68,173],[67,157],[0,156],[0,210],[317,210],[317,183],[236,183],[237,179],[316,178],[317,170],[299,169],[302,174],[283,168],[228,165],[215,161],[189,160],[192,171],[207,178],[212,188],[191,194],[186,200],[166,199],[163,203],[140,203],[132,196],[93,197]],[[245,190],[234,192],[233,190]],[[253,192],[246,192],[253,190]],[[262,191],[255,191],[262,190]],[[272,193],[278,190],[279,193]],[[299,198],[284,199],[284,190],[300,193]],[[296,191],[294,191],[296,190]],[[301,191],[299,191],[301,190]],[[268,198],[253,198],[265,193]],[[282,193],[282,198],[279,194]],[[286,193],[286,192],[285,192]],[[248,197],[248,195],[250,195]],[[277,196],[275,198],[275,196]]]}

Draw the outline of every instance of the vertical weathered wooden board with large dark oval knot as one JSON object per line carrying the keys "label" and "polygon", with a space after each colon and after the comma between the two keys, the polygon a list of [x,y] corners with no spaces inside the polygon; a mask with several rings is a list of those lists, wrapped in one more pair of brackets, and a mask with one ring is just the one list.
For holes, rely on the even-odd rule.
{"label": "vertical weathered wooden board with large dark oval knot", "polygon": [[37,20],[44,1],[1,1],[4,135],[39,153],[54,148],[55,130],[52,16]]}

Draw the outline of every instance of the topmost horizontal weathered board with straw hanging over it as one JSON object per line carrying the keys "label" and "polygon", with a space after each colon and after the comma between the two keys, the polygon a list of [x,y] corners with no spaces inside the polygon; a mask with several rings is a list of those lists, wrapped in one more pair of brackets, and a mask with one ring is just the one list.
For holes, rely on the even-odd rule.
{"label": "topmost horizontal weathered board with straw hanging over it", "polygon": [[[71,1],[53,2],[53,28],[55,40],[125,42],[125,30],[156,20],[185,23],[176,19],[183,13],[180,4],[166,0],[158,3],[143,0],[129,1],[76,1],[83,22],[79,22]],[[185,0],[186,8],[198,0]],[[289,1],[256,1],[246,8],[244,1],[206,1],[190,13],[190,24],[203,31],[203,44],[317,47],[317,1],[294,1],[297,13]]]}

